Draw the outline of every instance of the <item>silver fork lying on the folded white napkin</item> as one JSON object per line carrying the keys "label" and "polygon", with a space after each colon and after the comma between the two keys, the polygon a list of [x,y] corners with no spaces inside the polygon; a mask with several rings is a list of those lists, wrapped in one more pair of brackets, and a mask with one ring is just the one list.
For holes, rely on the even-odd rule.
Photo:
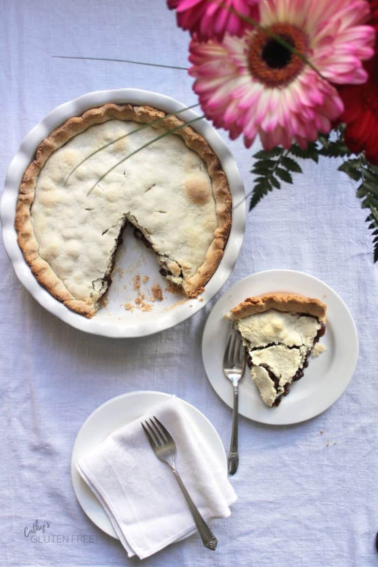
{"label": "silver fork lying on the folded white napkin", "polygon": [[186,502],[188,502],[189,510],[192,513],[193,520],[196,523],[203,545],[214,551],[218,540],[215,538],[213,532],[211,532],[209,526],[207,526],[205,520],[202,518],[196,504],[194,504],[192,498],[190,498],[189,492],[186,490],[185,485],[177,472],[175,466],[175,456],[177,453],[176,443],[173,441],[172,435],[169,431],[167,431],[167,429],[165,429],[164,425],[158,420],[158,418],[154,416],[154,420],[150,418],[151,425],[148,421],[145,421],[146,427],[141,424],[142,428],[145,430],[152,450],[158,459],[167,463],[168,466],[171,467],[171,471],[175,475],[177,483],[179,483],[181,492],[184,494]]}

